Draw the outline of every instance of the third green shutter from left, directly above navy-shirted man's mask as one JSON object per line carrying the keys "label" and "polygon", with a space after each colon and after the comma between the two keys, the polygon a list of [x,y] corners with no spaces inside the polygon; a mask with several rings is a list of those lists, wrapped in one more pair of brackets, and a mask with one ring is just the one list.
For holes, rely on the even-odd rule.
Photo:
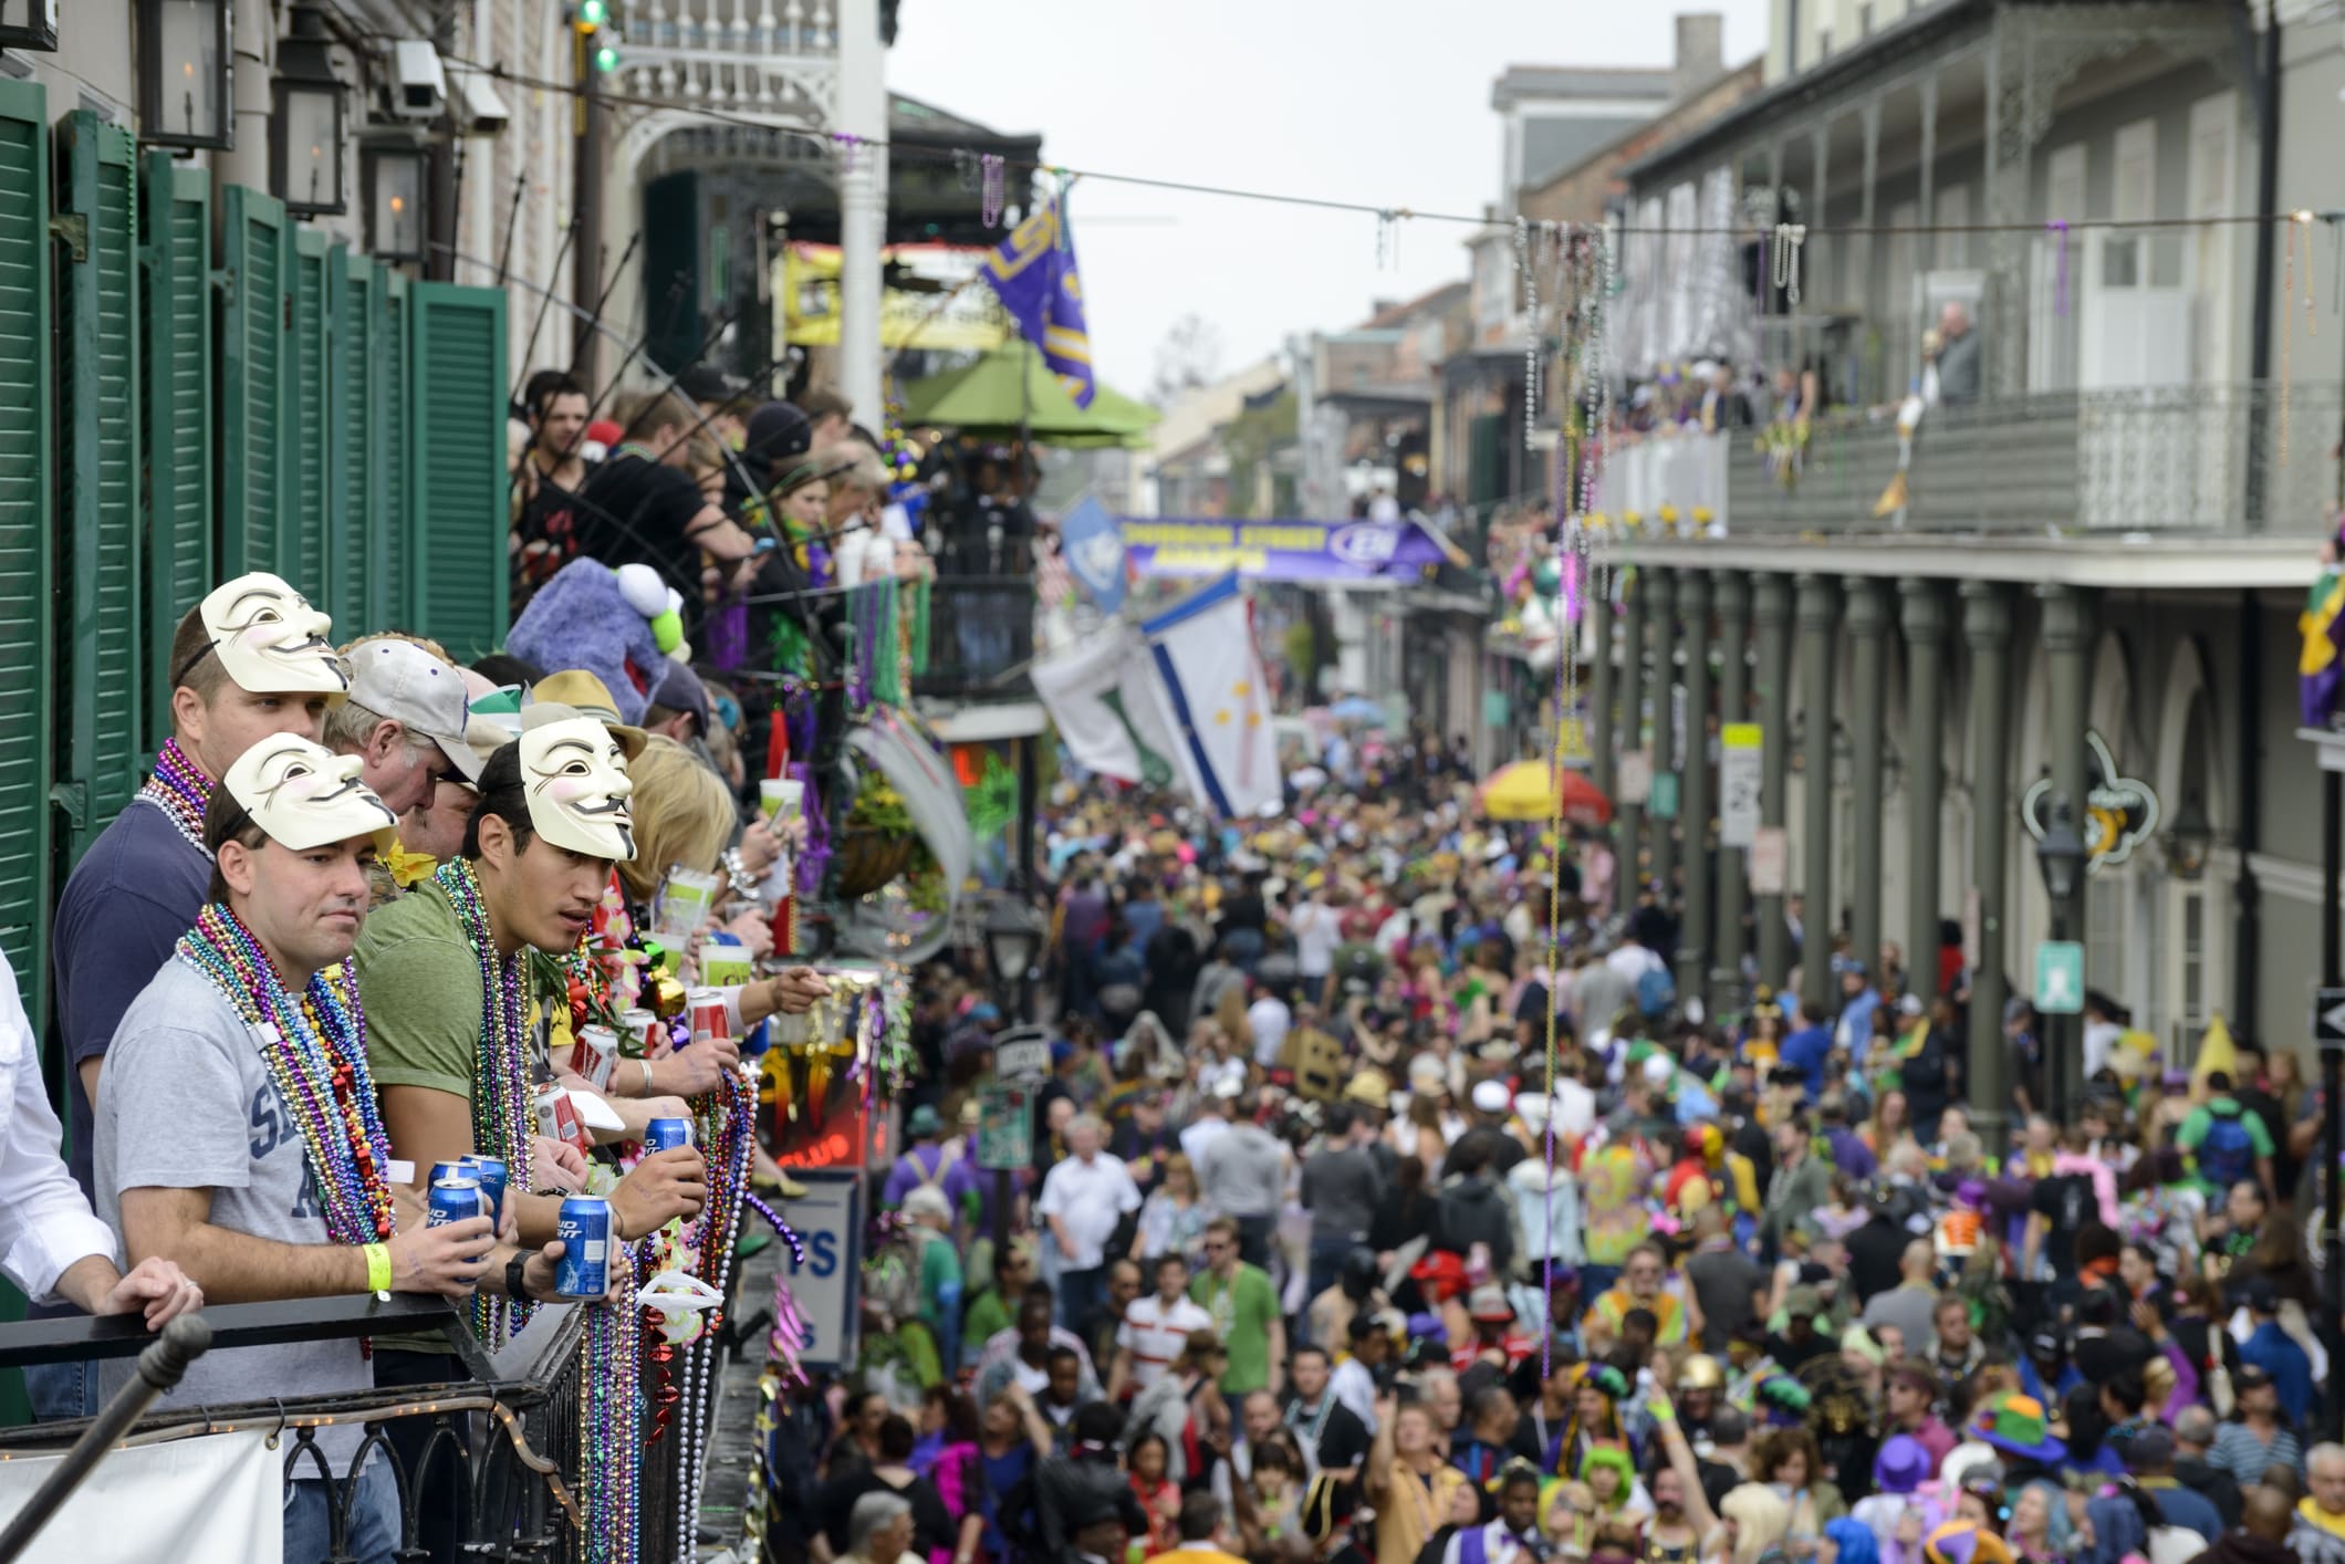
{"label": "third green shutter from left, directly above navy-shirted man's mask", "polygon": [[211,591],[211,176],[148,152],[145,675],[148,748],[171,732],[171,631]]}

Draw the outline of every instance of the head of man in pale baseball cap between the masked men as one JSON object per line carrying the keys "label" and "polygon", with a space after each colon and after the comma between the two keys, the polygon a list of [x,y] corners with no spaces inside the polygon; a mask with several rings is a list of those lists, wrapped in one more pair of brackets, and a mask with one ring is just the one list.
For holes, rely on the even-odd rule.
{"label": "head of man in pale baseball cap between the masked men", "polygon": [[326,713],[326,748],[356,755],[366,786],[392,814],[431,802],[443,781],[471,783],[481,757],[464,741],[464,675],[403,635],[342,650],[349,696]]}

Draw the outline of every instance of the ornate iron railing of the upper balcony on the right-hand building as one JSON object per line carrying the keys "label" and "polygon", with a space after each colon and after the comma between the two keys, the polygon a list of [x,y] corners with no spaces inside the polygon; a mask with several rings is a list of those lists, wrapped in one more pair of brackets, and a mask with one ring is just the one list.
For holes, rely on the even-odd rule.
{"label": "ornate iron railing of the upper balcony on the right-hand building", "polygon": [[[1930,408],[1904,506],[1890,420],[1824,417],[1792,455],[1763,429],[1726,450],[1726,514],[1749,532],[2186,532],[2310,537],[2336,506],[2345,396],[2277,385],[2045,392]],[[1726,438],[1726,436],[1714,436]],[[1651,525],[1651,516],[1646,518]]]}

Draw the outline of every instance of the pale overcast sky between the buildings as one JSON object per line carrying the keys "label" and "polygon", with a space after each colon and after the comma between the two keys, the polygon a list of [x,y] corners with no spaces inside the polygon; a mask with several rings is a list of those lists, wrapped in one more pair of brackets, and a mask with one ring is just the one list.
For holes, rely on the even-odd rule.
{"label": "pale overcast sky between the buildings", "polygon": [[[1001,131],[1039,131],[1069,169],[1477,213],[1498,199],[1508,63],[1667,66],[1672,14],[1726,14],[1726,59],[1766,40],[1766,0],[905,0],[889,87]],[[1360,321],[1379,298],[1466,277],[1468,227],[1377,220],[1083,181],[1076,258],[1100,375],[1144,396],[1187,312],[1219,368],[1285,333]]]}

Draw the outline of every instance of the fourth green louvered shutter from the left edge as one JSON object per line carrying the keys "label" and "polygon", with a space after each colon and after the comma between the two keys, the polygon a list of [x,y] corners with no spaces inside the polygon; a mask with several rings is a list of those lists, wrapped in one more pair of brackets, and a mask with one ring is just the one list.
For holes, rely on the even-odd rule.
{"label": "fourth green louvered shutter from the left edge", "polygon": [[220,204],[220,574],[277,570],[284,457],[286,216],[258,190]]}

